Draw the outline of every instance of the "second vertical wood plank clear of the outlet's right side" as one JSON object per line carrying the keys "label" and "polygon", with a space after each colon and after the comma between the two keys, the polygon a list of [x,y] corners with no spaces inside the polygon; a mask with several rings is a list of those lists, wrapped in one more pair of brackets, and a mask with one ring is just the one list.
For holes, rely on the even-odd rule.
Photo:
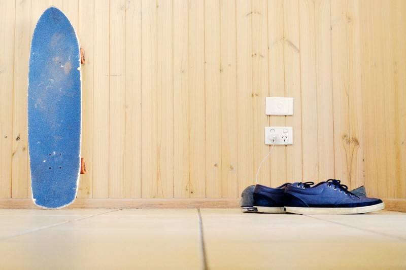
{"label": "second vertical wood plank clear of the outlet's right side", "polygon": [[330,1],[315,2],[318,180],[334,176]]}

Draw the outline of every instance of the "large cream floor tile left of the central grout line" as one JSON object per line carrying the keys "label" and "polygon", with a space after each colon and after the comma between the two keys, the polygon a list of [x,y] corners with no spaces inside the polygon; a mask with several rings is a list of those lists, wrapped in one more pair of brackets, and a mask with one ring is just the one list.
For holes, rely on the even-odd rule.
{"label": "large cream floor tile left of the central grout line", "polygon": [[124,209],[0,242],[13,269],[200,269],[196,209]]}

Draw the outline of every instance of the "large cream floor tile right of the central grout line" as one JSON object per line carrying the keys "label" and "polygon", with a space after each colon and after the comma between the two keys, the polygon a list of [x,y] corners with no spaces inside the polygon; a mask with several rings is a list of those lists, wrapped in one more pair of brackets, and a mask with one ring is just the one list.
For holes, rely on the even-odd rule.
{"label": "large cream floor tile right of the central grout line", "polygon": [[201,209],[210,269],[400,269],[406,242],[302,215]]}

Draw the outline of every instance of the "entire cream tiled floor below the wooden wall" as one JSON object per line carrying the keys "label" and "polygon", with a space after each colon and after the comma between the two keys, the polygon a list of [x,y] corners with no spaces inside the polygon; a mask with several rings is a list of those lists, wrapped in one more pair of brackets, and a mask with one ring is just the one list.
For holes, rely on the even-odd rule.
{"label": "entire cream tiled floor below the wooden wall", "polygon": [[401,269],[406,214],[0,209],[0,269]]}

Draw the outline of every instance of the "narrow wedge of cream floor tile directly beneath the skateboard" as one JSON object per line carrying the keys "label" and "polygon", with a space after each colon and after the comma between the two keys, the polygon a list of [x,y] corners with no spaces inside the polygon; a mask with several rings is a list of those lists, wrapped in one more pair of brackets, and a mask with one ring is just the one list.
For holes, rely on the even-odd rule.
{"label": "narrow wedge of cream floor tile directly beneath the skateboard", "polygon": [[113,209],[0,209],[0,240]]}

